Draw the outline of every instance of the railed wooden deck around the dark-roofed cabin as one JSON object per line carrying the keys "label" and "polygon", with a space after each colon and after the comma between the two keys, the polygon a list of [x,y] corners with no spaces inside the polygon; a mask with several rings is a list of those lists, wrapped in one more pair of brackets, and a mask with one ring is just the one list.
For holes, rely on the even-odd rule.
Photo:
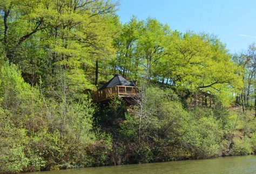
{"label": "railed wooden deck around the dark-roofed cabin", "polygon": [[114,86],[100,91],[92,92],[93,102],[101,102],[110,99],[113,96],[133,97],[138,94],[138,87],[134,86]]}

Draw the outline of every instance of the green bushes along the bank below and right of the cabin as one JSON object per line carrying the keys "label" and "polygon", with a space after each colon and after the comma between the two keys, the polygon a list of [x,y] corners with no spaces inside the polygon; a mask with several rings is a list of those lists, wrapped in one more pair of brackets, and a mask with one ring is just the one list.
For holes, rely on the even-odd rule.
{"label": "green bushes along the bank below and right of the cabin", "polygon": [[[211,158],[226,154],[226,151],[230,151],[229,154],[232,151],[233,155],[250,153],[251,145],[247,136],[243,137],[244,144],[232,137],[233,145],[228,150],[237,115],[224,108],[216,111],[213,108],[194,107],[186,111],[171,90],[150,87],[145,90],[142,110],[143,117],[139,116],[139,108],[133,114],[126,114],[119,131],[120,140],[126,142],[126,151],[130,151],[130,158],[138,156],[139,162]],[[244,119],[239,116],[238,122]],[[248,134],[248,129],[254,130],[249,126],[254,125],[253,122],[245,122],[247,127],[242,128],[244,134]],[[137,147],[133,147],[133,144],[137,144]],[[253,147],[253,141],[251,144]],[[145,153],[145,149],[150,150]],[[124,160],[131,159],[126,156]]]}

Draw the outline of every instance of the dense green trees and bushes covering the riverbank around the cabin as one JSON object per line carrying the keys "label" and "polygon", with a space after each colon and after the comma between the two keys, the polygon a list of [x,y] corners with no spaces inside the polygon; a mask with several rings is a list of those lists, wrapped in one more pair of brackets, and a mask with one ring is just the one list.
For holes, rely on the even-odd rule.
{"label": "dense green trees and bushes covering the riverbank around the cabin", "polygon": [[[0,0],[0,173],[256,152],[255,46],[100,0]],[[92,103],[119,73],[138,97]],[[253,100],[255,99],[255,100]]]}

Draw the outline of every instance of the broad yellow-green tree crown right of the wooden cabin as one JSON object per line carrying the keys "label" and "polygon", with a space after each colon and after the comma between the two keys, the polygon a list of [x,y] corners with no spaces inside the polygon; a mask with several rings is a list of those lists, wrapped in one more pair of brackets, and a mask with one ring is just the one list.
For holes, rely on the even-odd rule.
{"label": "broad yellow-green tree crown right of the wooden cabin", "polygon": [[183,92],[185,99],[198,92],[217,96],[229,105],[232,91],[239,89],[241,79],[225,46],[218,39],[193,33],[181,36],[174,32],[172,40],[170,56],[160,64],[169,64],[163,76],[170,78],[172,88]]}

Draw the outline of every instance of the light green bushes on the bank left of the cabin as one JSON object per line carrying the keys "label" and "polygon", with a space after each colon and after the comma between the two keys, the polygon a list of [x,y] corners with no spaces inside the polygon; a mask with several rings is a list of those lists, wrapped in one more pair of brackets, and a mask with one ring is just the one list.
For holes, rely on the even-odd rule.
{"label": "light green bushes on the bank left of the cabin", "polygon": [[90,100],[41,99],[14,64],[0,71],[0,173],[105,164],[111,137],[93,131]]}

